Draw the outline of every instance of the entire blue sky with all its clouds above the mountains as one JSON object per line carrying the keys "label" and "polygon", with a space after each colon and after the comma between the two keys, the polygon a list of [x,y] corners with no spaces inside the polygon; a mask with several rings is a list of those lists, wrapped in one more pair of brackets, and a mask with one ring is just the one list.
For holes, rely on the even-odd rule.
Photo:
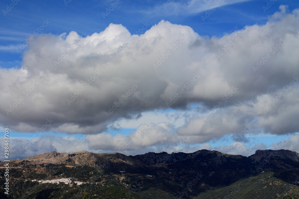
{"label": "entire blue sky with all its clouds above the mountains", "polygon": [[9,159],[53,150],[299,152],[298,1],[4,0],[0,8]]}

